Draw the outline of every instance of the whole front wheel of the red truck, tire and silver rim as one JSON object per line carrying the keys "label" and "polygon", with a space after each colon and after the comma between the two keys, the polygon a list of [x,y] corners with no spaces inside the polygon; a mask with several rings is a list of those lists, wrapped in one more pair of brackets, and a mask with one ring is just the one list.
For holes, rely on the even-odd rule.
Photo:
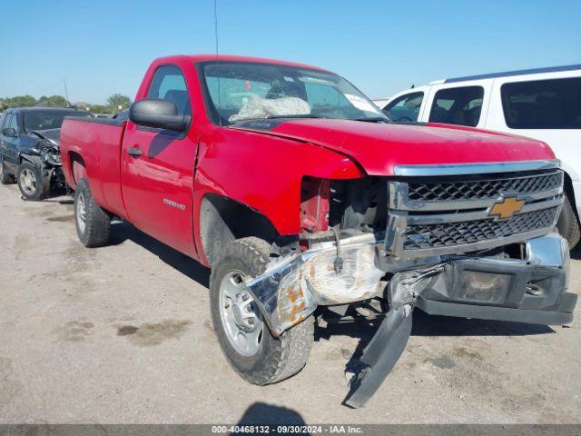
{"label": "whole front wheel of the red truck, tire and silver rim", "polygon": [[249,237],[228,243],[212,265],[210,304],[212,323],[222,352],[234,371],[252,384],[287,379],[304,367],[313,342],[310,316],[275,338],[263,321],[245,284],[269,262],[270,245]]}

